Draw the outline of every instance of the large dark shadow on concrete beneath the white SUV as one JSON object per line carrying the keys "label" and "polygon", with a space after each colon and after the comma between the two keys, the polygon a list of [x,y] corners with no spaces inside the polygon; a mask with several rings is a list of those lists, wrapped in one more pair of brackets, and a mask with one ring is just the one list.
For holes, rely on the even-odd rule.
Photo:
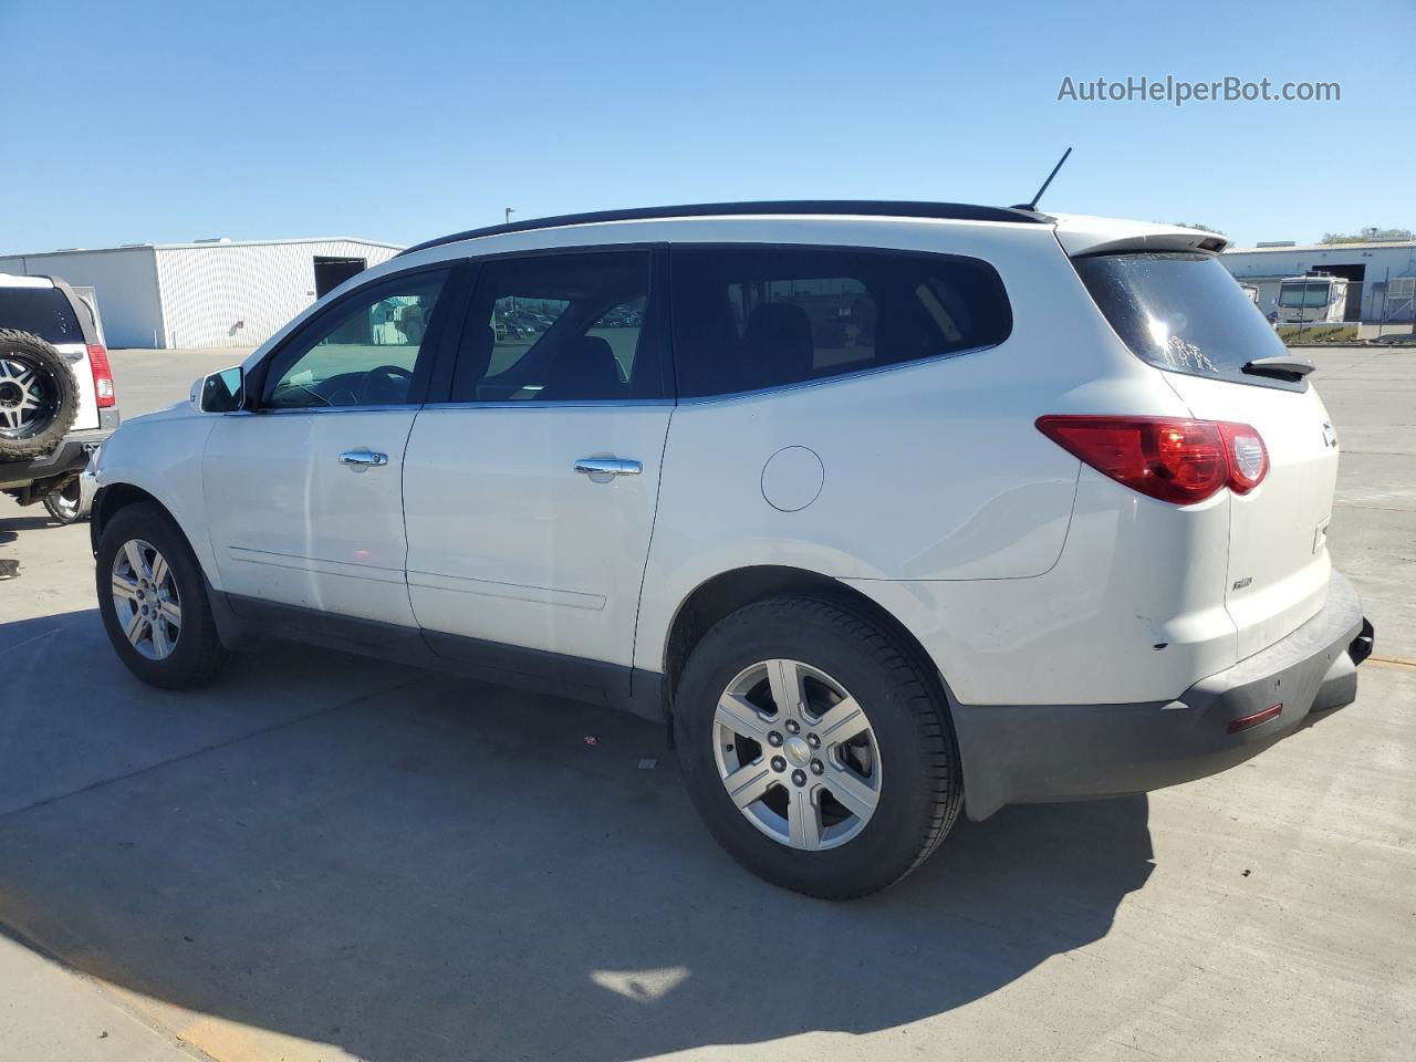
{"label": "large dark shadow on concrete beneath the white SUV", "polygon": [[[1151,872],[1131,797],[1007,809],[891,891],[810,901],[714,845],[643,721],[303,649],[163,694],[96,613],[59,619],[0,624],[8,688],[65,718],[0,712],[0,776],[24,763],[33,790],[0,806],[0,926],[159,1004],[374,1062],[892,1028],[1103,937]],[[89,726],[137,759],[75,773]]]}

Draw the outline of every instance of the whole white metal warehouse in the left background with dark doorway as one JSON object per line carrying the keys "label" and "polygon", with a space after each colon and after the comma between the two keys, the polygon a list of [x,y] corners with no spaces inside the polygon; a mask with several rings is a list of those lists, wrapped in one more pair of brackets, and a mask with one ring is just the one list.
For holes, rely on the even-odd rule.
{"label": "whole white metal warehouse in the left background with dark doorway", "polygon": [[253,347],[401,248],[371,239],[130,244],[0,256],[0,273],[93,289],[110,347]]}

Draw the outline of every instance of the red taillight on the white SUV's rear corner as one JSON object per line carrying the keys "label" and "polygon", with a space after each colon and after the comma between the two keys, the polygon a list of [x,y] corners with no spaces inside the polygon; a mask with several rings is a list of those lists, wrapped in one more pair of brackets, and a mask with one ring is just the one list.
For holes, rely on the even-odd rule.
{"label": "red taillight on the white SUV's rear corner", "polygon": [[1192,506],[1229,487],[1246,494],[1269,472],[1263,439],[1245,423],[1164,416],[1039,416],[1038,430],[1131,490]]}

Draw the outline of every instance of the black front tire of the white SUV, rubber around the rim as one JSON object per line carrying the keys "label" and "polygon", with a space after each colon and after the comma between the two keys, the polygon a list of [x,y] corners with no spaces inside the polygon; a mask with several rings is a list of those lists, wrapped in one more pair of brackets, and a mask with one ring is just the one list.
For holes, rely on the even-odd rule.
{"label": "black front tire of the white SUV, rubber around the rim", "polygon": [[[181,602],[181,629],[171,653],[161,660],[143,656],[123,633],[113,602],[113,564],[119,551],[133,539],[150,544],[167,561]],[[98,607],[113,650],[127,670],[149,685],[161,690],[188,690],[204,685],[227,663],[227,650],[217,636],[217,622],[207,598],[201,565],[187,544],[181,528],[161,508],[140,503],[120,508],[103,527],[98,544]]]}

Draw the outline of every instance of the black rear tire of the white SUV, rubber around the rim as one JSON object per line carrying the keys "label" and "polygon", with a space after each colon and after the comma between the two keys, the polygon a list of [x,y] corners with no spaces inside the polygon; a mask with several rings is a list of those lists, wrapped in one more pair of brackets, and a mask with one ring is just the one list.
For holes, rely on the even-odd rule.
{"label": "black rear tire of the white SUV, rubber around the rim", "polygon": [[[789,658],[828,673],[864,708],[879,748],[874,814],[835,848],[773,840],[738,810],[715,759],[714,715],[729,683],[758,661]],[[963,807],[949,709],[923,661],[848,605],[773,598],[748,605],[694,649],[674,695],[674,738],[690,796],[708,830],[766,881],[823,899],[892,885],[922,864]]]}

